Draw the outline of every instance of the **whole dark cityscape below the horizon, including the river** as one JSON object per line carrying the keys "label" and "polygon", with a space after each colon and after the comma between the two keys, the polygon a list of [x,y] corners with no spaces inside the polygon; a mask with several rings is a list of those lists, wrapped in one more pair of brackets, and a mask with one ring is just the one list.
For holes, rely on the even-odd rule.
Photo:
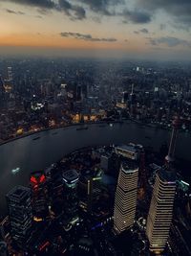
{"label": "whole dark cityscape below the horizon, including the river", "polygon": [[190,74],[0,58],[0,254],[190,255]]}

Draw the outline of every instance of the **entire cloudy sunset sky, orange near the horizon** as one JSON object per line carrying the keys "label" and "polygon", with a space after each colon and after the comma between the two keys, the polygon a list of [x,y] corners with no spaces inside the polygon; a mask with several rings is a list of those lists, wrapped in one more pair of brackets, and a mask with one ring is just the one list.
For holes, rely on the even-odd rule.
{"label": "entire cloudy sunset sky, orange near the horizon", "polygon": [[191,0],[0,0],[0,55],[191,58]]}

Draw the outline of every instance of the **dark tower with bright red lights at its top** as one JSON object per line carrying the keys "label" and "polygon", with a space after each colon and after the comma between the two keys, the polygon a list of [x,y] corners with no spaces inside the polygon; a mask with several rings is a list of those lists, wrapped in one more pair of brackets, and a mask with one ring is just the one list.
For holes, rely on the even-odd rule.
{"label": "dark tower with bright red lights at its top", "polygon": [[32,212],[33,220],[38,221],[46,217],[48,205],[46,200],[46,177],[43,172],[34,172],[30,178],[32,188]]}

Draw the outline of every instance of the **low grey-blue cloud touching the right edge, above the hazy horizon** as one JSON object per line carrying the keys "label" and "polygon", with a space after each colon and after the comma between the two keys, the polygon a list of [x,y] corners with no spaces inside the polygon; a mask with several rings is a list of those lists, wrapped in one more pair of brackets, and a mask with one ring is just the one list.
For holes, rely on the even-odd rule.
{"label": "low grey-blue cloud touching the right edge, above the hazy horizon", "polygon": [[183,47],[191,47],[191,42],[180,39],[177,37],[171,37],[171,36],[166,36],[166,37],[159,37],[159,38],[151,38],[147,37],[149,40],[149,44],[153,46],[160,46],[160,45],[166,45],[168,47],[176,47],[176,46],[183,46]]}

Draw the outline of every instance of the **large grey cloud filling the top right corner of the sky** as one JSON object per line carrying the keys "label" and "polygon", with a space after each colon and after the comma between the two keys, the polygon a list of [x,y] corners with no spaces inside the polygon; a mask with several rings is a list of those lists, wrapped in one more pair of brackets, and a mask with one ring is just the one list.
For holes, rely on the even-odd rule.
{"label": "large grey cloud filling the top right corner of the sky", "polygon": [[137,6],[150,13],[162,10],[173,15],[175,21],[179,20],[184,26],[191,24],[190,0],[137,0]]}

